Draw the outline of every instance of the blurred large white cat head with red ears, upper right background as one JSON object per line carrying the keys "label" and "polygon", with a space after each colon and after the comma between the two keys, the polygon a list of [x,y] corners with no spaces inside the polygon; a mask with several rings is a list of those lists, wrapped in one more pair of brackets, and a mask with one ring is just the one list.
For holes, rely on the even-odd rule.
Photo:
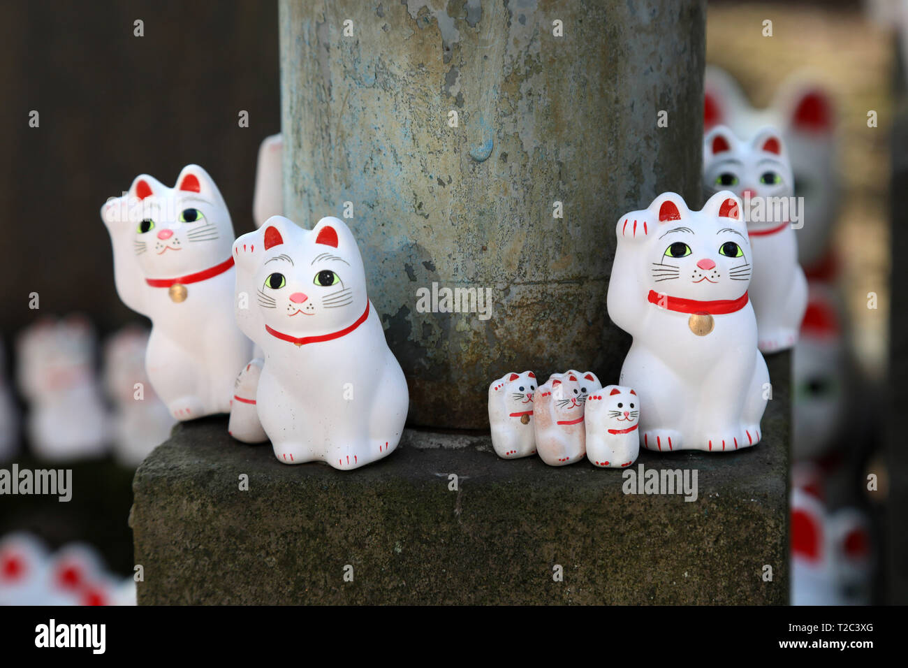
{"label": "blurred large white cat head with red ears, upper right background", "polygon": [[779,87],[771,105],[755,109],[735,79],[714,65],[706,67],[704,87],[705,132],[727,125],[735,135],[746,137],[766,125],[779,128],[791,159],[795,195],[804,197],[798,261],[814,271],[828,264],[840,190],[832,95],[811,75],[798,73]]}

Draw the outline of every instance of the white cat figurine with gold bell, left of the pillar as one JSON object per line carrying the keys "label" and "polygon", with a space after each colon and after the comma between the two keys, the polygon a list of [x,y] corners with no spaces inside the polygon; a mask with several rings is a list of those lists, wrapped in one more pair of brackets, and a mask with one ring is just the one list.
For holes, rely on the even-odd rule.
{"label": "white cat figurine with gold bell, left of the pillar", "polygon": [[252,343],[233,318],[233,226],[202,167],[168,188],[147,174],[101,209],[123,303],[152,320],[146,369],[177,420],[228,413]]}

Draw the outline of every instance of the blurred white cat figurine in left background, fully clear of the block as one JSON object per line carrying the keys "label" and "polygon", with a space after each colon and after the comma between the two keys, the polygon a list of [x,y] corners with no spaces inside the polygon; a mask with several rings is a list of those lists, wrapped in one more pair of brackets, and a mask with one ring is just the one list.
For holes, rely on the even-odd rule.
{"label": "blurred white cat figurine in left background, fully clear of the block", "polygon": [[29,402],[35,454],[72,460],[104,454],[109,421],[94,372],[95,335],[80,315],[41,320],[16,344],[19,389]]}

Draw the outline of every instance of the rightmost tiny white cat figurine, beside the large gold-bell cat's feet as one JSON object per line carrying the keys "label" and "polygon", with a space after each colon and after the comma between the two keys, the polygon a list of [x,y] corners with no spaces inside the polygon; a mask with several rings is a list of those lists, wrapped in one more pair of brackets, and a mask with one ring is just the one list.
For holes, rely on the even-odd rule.
{"label": "rightmost tiny white cat figurine, beside the large gold-bell cat's feet", "polygon": [[640,400],[630,387],[607,385],[587,397],[587,459],[601,468],[624,468],[637,461]]}

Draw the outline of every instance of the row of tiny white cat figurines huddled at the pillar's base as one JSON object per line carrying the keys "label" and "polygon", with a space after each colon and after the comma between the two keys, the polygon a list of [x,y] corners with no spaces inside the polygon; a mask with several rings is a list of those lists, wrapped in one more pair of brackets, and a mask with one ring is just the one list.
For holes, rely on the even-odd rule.
{"label": "row of tiny white cat figurines huddled at the pillar's base", "polygon": [[536,387],[536,374],[504,374],[489,385],[492,447],[502,459],[538,454],[549,466],[584,455],[600,468],[637,461],[640,402],[630,387],[603,387],[596,374],[573,369]]}

